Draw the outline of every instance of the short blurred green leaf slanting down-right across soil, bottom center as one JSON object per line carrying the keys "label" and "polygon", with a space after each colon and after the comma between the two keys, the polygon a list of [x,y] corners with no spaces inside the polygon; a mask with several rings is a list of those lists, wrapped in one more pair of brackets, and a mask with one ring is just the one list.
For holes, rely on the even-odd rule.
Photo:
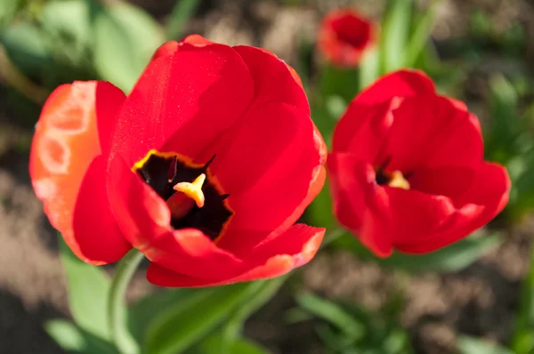
{"label": "short blurred green leaf slanting down-right across soil, bottom center", "polygon": [[296,302],[304,310],[311,312],[319,318],[327,320],[354,340],[360,339],[365,333],[365,328],[361,323],[335,302],[329,302],[328,300],[321,299],[319,296],[309,293],[297,295]]}

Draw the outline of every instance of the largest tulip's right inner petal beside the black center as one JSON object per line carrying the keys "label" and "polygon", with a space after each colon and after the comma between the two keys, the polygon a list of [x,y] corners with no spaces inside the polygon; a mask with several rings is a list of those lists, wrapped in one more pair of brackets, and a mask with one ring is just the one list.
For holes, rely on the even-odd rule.
{"label": "largest tulip's right inner petal beside the black center", "polygon": [[324,153],[324,141],[302,110],[283,103],[255,106],[199,157],[216,154],[210,170],[230,193],[235,212],[219,245],[247,253],[273,229],[291,226],[322,187]]}

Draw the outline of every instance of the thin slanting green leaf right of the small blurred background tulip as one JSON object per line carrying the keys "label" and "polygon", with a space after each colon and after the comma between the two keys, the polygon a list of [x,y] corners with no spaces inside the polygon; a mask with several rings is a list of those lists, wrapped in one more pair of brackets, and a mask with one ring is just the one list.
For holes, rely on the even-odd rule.
{"label": "thin slanting green leaf right of the small blurred background tulip", "polygon": [[416,28],[409,37],[409,42],[404,52],[404,65],[406,67],[415,67],[417,58],[423,52],[425,44],[428,43],[438,4],[440,4],[440,1],[433,0],[433,3],[430,4],[429,8],[417,20]]}

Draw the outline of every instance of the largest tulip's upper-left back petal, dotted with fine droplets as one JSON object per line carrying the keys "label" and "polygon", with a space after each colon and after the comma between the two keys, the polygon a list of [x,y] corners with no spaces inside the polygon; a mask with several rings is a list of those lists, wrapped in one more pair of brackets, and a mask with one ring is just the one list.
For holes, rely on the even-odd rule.
{"label": "largest tulip's upper-left back petal, dotted with fine droplets", "polygon": [[194,157],[239,119],[254,95],[230,46],[181,43],[150,62],[121,109],[114,152],[134,165],[150,149]]}

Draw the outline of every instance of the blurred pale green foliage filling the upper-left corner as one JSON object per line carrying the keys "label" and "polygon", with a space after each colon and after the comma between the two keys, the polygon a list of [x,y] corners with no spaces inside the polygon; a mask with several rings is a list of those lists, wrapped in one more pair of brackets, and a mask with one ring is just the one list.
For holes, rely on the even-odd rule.
{"label": "blurred pale green foliage filling the upper-left corner", "polygon": [[[190,13],[181,16],[187,20]],[[126,2],[50,1],[35,19],[6,26],[0,43],[10,59],[51,89],[100,76],[127,92],[165,41],[158,22]]]}

